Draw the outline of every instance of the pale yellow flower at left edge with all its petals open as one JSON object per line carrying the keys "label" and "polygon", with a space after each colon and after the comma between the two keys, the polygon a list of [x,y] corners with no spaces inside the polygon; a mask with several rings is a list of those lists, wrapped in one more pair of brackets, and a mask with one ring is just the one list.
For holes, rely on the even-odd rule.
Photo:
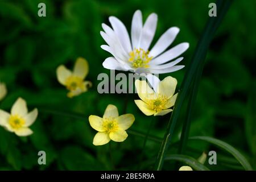
{"label": "pale yellow flower at left edge with all its petals open", "polygon": [[0,109],[0,126],[5,127],[6,130],[14,132],[20,137],[28,136],[33,133],[29,128],[38,117],[38,109],[32,110],[28,113],[26,101],[18,98],[11,107],[11,114]]}

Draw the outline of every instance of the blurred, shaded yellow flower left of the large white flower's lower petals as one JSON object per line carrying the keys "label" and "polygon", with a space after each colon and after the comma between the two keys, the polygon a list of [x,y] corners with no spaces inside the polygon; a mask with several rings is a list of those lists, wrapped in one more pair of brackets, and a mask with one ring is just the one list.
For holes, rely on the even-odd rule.
{"label": "blurred, shaded yellow flower left of the large white flower's lower petals", "polygon": [[73,72],[67,69],[64,65],[60,65],[57,68],[57,79],[60,84],[66,86],[69,90],[67,96],[72,98],[84,93],[92,86],[92,82],[84,81],[85,77],[88,75],[89,65],[88,62],[79,57],[76,60]]}

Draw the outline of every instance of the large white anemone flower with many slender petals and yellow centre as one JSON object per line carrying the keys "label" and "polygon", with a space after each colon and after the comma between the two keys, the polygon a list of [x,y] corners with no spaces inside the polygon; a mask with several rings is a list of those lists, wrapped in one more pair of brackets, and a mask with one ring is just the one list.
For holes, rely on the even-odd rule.
{"label": "large white anemone flower with many slender petals and yellow centre", "polygon": [[[180,43],[166,51],[179,33],[177,27],[171,27],[164,32],[148,51],[155,35],[157,20],[158,16],[152,13],[143,24],[141,11],[135,11],[131,22],[130,39],[121,20],[110,16],[109,22],[112,28],[103,23],[104,31],[101,31],[101,36],[108,45],[102,45],[101,48],[111,53],[113,57],[108,57],[102,64],[103,67],[153,74],[170,73],[183,68],[184,65],[176,64],[183,60],[183,57],[179,56],[188,49],[189,44]],[[171,61],[173,59],[175,60]]]}

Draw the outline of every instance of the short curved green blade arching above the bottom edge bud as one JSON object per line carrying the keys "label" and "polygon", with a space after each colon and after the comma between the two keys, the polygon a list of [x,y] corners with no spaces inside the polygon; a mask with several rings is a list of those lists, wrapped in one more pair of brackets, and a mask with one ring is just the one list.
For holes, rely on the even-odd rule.
{"label": "short curved green blade arching above the bottom edge bud", "polygon": [[164,160],[176,160],[179,162],[183,162],[188,166],[192,167],[193,169],[195,169],[196,171],[209,171],[209,169],[205,167],[203,164],[198,162],[196,159],[191,158],[191,156],[187,156],[187,155],[179,155],[179,154],[166,155]]}

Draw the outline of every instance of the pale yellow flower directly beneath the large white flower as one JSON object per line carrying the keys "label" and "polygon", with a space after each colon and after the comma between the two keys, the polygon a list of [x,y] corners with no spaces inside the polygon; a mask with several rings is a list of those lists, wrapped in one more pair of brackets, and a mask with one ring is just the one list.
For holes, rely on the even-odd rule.
{"label": "pale yellow flower directly beneath the large white flower", "polygon": [[168,76],[158,83],[155,92],[146,81],[136,80],[135,87],[141,100],[135,100],[135,104],[146,115],[170,113],[170,107],[174,106],[177,97],[177,94],[174,95],[176,85],[176,78]]}

